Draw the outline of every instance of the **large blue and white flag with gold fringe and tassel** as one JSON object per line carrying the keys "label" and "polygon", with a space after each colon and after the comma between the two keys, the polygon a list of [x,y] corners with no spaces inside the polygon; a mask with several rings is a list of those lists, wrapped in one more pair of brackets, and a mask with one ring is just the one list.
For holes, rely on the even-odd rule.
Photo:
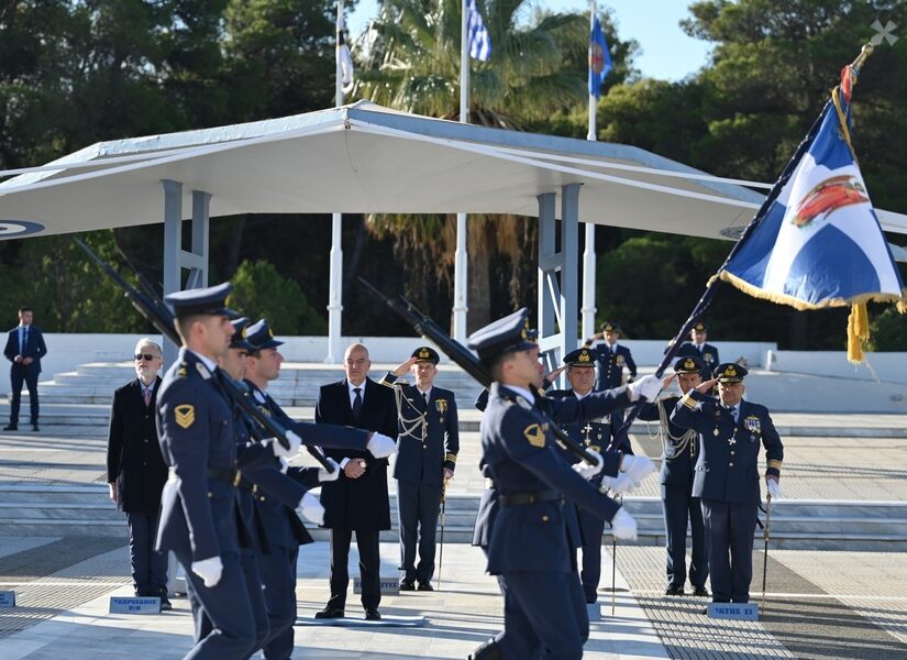
{"label": "large blue and white flag with gold fringe and tassel", "polygon": [[[851,90],[844,67],[814,130],[718,277],[756,298],[797,309],[851,306],[848,358],[862,362],[866,302],[898,302],[905,289],[851,145]],[[816,127],[818,130],[816,130]]]}

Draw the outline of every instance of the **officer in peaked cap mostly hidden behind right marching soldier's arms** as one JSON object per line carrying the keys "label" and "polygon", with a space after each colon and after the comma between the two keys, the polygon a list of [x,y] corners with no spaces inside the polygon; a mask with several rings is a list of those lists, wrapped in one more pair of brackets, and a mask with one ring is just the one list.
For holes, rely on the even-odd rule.
{"label": "officer in peaked cap mostly hidden behind right marching soldier's arms", "polygon": [[[595,358],[589,349],[577,349],[564,356],[567,370],[569,389],[550,389],[546,394],[552,398],[582,400],[589,396],[595,384]],[[609,418],[597,418],[586,424],[567,424],[563,430],[577,443],[602,453],[607,449],[627,451],[629,447],[609,448],[611,438],[611,422]],[[632,450],[629,453],[633,453]],[[596,488],[601,486],[604,472],[589,479]],[[624,476],[620,492],[627,492],[632,484]],[[616,486],[617,487],[617,486]],[[587,604],[598,600],[598,582],[601,578],[601,535],[605,534],[605,521],[582,507],[577,507],[576,516],[579,521],[579,534],[583,538],[583,568],[579,580],[583,583],[583,594]]]}

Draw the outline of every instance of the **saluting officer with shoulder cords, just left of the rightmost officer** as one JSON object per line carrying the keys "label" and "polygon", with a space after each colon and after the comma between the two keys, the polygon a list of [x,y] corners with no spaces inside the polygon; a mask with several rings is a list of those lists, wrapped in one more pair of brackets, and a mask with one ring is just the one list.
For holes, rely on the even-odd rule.
{"label": "saluting officer with shoulder cords, just left of the rightmost officer", "polygon": [[[679,358],[674,363],[674,377],[681,394],[686,395],[701,383],[699,373],[703,361],[696,356]],[[683,596],[686,582],[686,528],[689,520],[693,556],[689,563],[689,582],[693,595],[706,597],[706,580],[709,574],[709,553],[703,527],[703,508],[699,497],[693,494],[693,477],[699,459],[699,436],[694,429],[681,428],[671,421],[671,414],[681,399],[673,394],[657,402],[645,404],[639,418],[657,421],[662,439],[662,470],[660,474],[664,531],[667,539],[667,587],[665,595]]]}

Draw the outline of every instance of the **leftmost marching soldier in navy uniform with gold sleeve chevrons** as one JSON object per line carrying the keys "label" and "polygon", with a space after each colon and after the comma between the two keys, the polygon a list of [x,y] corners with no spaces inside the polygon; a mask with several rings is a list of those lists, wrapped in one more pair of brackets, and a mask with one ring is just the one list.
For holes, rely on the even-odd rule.
{"label": "leftmost marching soldier in navy uniform with gold sleeve chevrons", "polygon": [[[170,550],[186,570],[187,590],[211,629],[187,658],[245,658],[255,623],[237,542],[233,413],[217,361],[233,327],[224,301],[232,286],[165,297],[182,340],[179,358],[157,395],[157,431],[170,476],[162,495],[157,549]],[[197,626],[198,627],[198,626]]]}

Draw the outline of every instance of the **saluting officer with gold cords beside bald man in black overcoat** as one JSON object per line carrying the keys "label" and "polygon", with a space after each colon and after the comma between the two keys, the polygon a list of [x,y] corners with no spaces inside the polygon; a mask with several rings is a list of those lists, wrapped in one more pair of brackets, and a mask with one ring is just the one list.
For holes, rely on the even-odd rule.
{"label": "saluting officer with gold cords beside bald man in black overcoat", "polygon": [[[450,389],[434,386],[441,358],[420,346],[409,360],[388,372],[381,385],[394,387],[399,436],[394,477],[400,520],[400,591],[432,591],[435,532],[441,497],[453,479],[460,452],[456,398]],[[398,383],[411,371],[416,385]],[[419,564],[416,565],[416,546]]]}

